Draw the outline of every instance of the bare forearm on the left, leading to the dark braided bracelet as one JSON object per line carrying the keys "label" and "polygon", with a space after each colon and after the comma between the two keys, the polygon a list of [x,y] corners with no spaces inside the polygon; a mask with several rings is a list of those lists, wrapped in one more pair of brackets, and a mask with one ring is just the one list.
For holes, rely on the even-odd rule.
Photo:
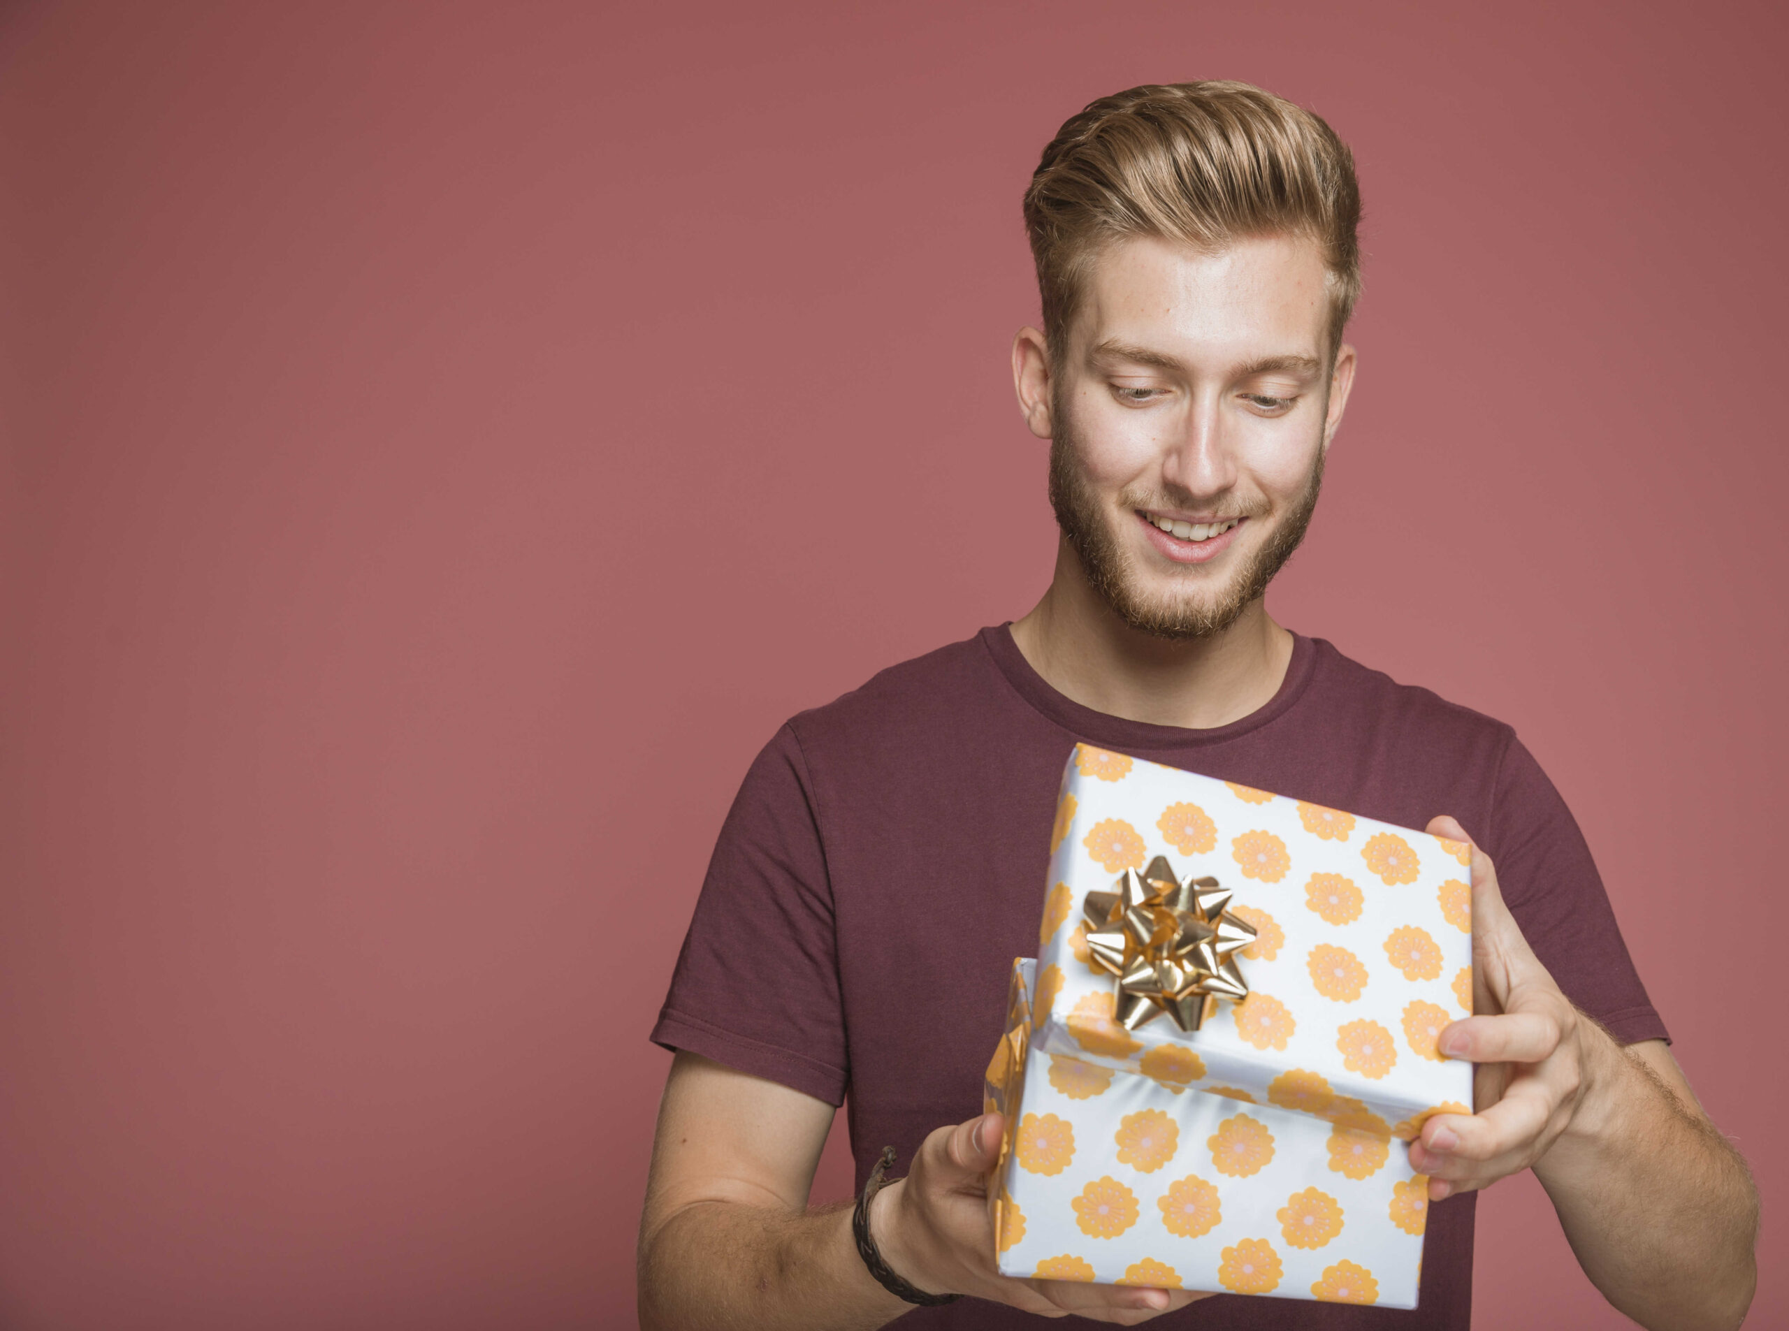
{"label": "bare forearm on the left, leading to the dark braided bracelet", "polygon": [[646,1331],[871,1331],[903,1311],[857,1256],[850,1204],[696,1202],[640,1249]]}

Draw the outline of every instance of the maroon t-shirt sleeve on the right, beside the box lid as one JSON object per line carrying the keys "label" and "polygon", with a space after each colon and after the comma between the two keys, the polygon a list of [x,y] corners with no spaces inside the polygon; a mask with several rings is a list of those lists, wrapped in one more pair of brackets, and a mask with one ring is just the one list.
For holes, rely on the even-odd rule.
{"label": "maroon t-shirt sleeve on the right, beside the box lid", "polygon": [[1641,984],[1578,819],[1512,737],[1485,850],[1515,923],[1564,995],[1623,1045],[1669,1039]]}

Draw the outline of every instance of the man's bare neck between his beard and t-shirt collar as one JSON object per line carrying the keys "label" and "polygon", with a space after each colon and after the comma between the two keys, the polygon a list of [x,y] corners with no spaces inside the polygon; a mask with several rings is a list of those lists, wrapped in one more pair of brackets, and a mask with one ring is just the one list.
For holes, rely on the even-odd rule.
{"label": "man's bare neck between his beard and t-shirt collar", "polygon": [[1066,540],[1056,576],[1013,640],[1059,694],[1095,712],[1211,730],[1265,707],[1292,664],[1292,633],[1256,599],[1222,633],[1190,642],[1140,633],[1093,590]]}

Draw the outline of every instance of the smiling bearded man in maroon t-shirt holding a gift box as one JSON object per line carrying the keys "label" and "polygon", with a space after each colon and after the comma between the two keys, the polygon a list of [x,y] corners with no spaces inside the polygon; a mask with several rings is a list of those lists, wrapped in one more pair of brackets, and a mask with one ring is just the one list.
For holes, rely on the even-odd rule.
{"label": "smiling bearded man in maroon t-shirt holding a gift box", "polygon": [[[1472,1191],[1522,1168],[1615,1308],[1744,1317],[1744,1163],[1547,778],[1508,726],[1267,615],[1354,381],[1358,218],[1333,131],[1245,84],[1136,88],[1045,148],[1025,195],[1043,331],[1013,369],[1050,440],[1054,580],[1009,628],[794,717],[746,776],[653,1032],[680,1052],[642,1324],[1465,1326]],[[973,1107],[1077,741],[1474,843],[1476,1014],[1440,1047],[1478,1064],[1478,1111],[1410,1143],[1433,1202],[1415,1313],[995,1274],[1002,1123]],[[911,1161],[862,1256],[850,1208],[805,1209],[841,1100],[861,1184],[884,1145]],[[970,1297],[914,1311],[943,1293]]]}

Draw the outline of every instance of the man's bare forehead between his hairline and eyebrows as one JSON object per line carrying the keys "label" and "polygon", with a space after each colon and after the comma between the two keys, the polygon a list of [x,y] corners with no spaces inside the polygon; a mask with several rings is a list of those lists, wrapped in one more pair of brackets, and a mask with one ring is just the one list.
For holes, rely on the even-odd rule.
{"label": "man's bare forehead between his hairline and eyebrows", "polygon": [[1220,250],[1140,236],[1090,265],[1075,343],[1123,342],[1188,363],[1322,358],[1327,270],[1306,236],[1254,236]]}

